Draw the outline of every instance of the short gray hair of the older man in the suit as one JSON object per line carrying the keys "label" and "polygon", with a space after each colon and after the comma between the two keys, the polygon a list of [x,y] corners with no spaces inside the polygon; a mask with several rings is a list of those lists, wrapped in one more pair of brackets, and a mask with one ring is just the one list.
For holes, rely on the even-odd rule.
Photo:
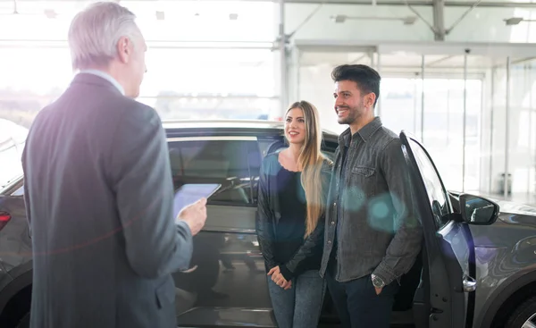
{"label": "short gray hair of the older man in the suit", "polygon": [[135,22],[136,15],[113,2],[98,2],[88,7],[71,21],[69,47],[73,70],[105,66],[117,55],[121,37],[141,36]]}

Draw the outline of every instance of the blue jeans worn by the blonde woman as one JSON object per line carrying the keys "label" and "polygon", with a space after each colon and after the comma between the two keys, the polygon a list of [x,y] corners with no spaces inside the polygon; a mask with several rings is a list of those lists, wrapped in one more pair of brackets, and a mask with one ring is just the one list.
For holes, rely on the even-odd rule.
{"label": "blue jeans worn by the blonde woman", "polygon": [[326,282],[317,270],[306,271],[292,279],[289,290],[283,290],[268,276],[268,290],[279,328],[318,326]]}

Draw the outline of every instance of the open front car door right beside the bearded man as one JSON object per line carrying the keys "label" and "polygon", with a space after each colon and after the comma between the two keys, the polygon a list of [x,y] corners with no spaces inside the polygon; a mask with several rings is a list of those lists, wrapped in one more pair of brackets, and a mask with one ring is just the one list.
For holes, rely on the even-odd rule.
{"label": "open front car door right beside the bearded man", "polygon": [[[473,325],[475,282],[474,247],[466,223],[454,220],[447,189],[426,149],[414,138],[400,133],[406,153],[416,211],[424,232],[428,262],[428,327]],[[426,279],[426,277],[423,277]]]}

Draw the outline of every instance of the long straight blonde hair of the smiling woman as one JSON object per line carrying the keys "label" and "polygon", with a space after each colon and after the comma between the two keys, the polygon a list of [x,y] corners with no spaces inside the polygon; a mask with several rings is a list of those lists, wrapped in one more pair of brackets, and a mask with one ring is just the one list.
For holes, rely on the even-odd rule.
{"label": "long straight blonde hair of the smiling woman", "polygon": [[326,160],[320,147],[322,144],[322,130],[320,129],[320,120],[316,107],[306,101],[298,101],[290,105],[289,111],[299,108],[304,113],[306,122],[306,139],[297,158],[298,167],[301,168],[301,184],[306,191],[307,216],[306,216],[306,235],[304,238],[313,233],[322,214],[325,211],[322,184],[322,164]]}

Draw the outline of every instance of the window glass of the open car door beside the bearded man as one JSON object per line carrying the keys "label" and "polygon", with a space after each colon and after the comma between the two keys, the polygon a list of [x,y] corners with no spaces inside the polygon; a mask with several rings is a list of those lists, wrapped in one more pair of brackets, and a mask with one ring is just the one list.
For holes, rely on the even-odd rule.
{"label": "window glass of the open car door beside the bearded man", "polygon": [[428,193],[428,199],[436,222],[436,227],[440,229],[443,225],[448,223],[448,220],[445,218],[445,215],[450,211],[447,190],[444,189],[440,175],[436,171],[430,156],[428,156],[423,147],[412,139],[410,139],[409,145],[415,155],[415,161],[417,162],[419,171],[423,176],[424,186]]}

